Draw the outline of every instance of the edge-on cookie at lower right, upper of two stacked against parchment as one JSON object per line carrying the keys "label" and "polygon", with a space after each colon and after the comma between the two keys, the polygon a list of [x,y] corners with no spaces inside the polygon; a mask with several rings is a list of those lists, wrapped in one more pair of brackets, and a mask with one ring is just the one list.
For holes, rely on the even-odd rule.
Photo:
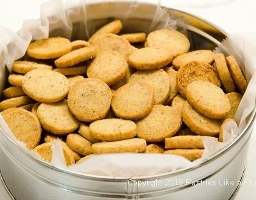
{"label": "edge-on cookie at lower right, upper of two stacked against parchment", "polygon": [[175,136],[165,138],[165,148],[204,148],[204,138],[212,138],[218,141],[218,138],[209,136]]}

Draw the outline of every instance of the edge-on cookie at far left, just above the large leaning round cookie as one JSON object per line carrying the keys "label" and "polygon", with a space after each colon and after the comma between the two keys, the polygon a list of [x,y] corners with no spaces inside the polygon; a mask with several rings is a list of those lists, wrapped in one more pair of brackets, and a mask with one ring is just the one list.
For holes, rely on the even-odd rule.
{"label": "edge-on cookie at far left, just above the large leaning round cookie", "polygon": [[28,96],[13,97],[0,102],[0,111],[6,110],[8,108],[24,106],[33,102],[34,100]]}

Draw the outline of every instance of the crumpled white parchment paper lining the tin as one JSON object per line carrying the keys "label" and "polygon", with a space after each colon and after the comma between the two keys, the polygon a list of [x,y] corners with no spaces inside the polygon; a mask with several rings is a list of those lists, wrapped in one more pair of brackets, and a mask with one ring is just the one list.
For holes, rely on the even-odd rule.
{"label": "crumpled white parchment paper lining the tin", "polygon": [[[104,0],[103,0],[104,1]],[[98,27],[99,24],[94,26],[88,25],[88,18],[90,16],[87,13],[87,6],[97,1],[67,1],[63,4],[61,0],[52,0],[43,4],[41,7],[41,17],[38,20],[24,20],[22,28],[19,34],[10,31],[5,27],[0,26],[0,80],[3,80],[5,65],[11,71],[13,61],[22,57],[29,42],[33,39],[42,39],[49,36],[63,36],[68,39],[74,37],[79,39],[87,39]],[[129,1],[130,6],[125,13],[118,13],[116,10],[116,1],[104,1],[112,3],[113,6],[109,13],[113,18],[120,18],[124,27],[129,23],[132,17],[136,16],[138,6],[143,1]],[[144,1],[148,2],[148,1]],[[157,1],[152,1],[157,4]],[[101,8],[99,8],[100,10]],[[102,7],[102,9],[104,9]],[[109,15],[108,13],[108,15]],[[106,13],[105,13],[106,14]],[[122,16],[122,17],[120,17]],[[103,14],[100,17],[104,17]],[[106,16],[108,17],[108,16]],[[79,25],[76,26],[76,34],[74,36],[75,29],[72,22],[74,19],[79,21]],[[179,20],[179,19],[178,19]],[[106,21],[107,22],[107,21]],[[106,24],[106,22],[104,24]],[[159,23],[161,22],[161,23]],[[101,22],[102,23],[102,22]],[[150,32],[154,29],[163,27],[175,28],[177,20],[173,20],[166,11],[160,6],[157,6],[152,15],[152,23],[145,28],[145,32]],[[102,24],[100,24],[102,25]],[[157,175],[159,173],[166,173],[168,171],[177,171],[183,168],[190,168],[201,162],[204,162],[209,157],[220,152],[222,148],[230,144],[237,138],[246,127],[247,120],[255,108],[256,101],[256,37],[255,33],[237,33],[231,35],[227,40],[223,41],[216,52],[223,52],[226,55],[235,55],[237,61],[241,66],[248,82],[248,88],[241,100],[239,108],[237,110],[235,120],[236,122],[228,122],[225,125],[224,142],[219,143],[212,139],[205,139],[205,152],[201,159],[194,162],[190,162],[184,157],[177,155],[164,155],[164,154],[108,154],[108,155],[92,155],[92,157],[81,164],[74,166],[66,166],[63,152],[61,150],[61,142],[57,140],[52,145],[52,161],[53,166],[69,169],[79,173],[104,175],[104,176],[149,176]],[[1,89],[3,88],[3,82],[1,83]],[[0,125],[3,127],[5,134],[9,134],[12,139],[15,139],[12,132],[0,115]],[[238,125],[238,126],[237,126]],[[17,140],[16,140],[17,141]],[[19,145],[26,148],[24,143],[17,141]],[[35,153],[32,153],[34,154]],[[38,155],[36,155],[38,156]]]}

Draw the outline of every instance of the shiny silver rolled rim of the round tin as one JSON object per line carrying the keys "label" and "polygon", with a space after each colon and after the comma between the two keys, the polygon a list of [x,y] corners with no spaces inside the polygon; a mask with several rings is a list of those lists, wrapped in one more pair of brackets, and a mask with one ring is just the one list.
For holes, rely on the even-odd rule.
{"label": "shiny silver rolled rim of the round tin", "polygon": [[[162,8],[167,8],[170,10],[176,10],[176,11],[182,11],[183,13],[188,13],[188,15],[191,15],[192,17],[196,17],[199,20],[204,21],[205,23],[212,25],[212,27],[215,27],[216,29],[218,29],[218,31],[222,32],[225,36],[229,36],[227,32],[223,31],[220,27],[216,26],[215,24],[213,24],[212,22],[209,22],[208,20],[205,20],[204,18],[198,17],[195,14],[189,13],[188,11],[183,11],[183,10],[178,10],[176,8],[170,8],[170,7],[166,7],[166,6],[161,6]],[[244,130],[241,132],[241,134],[239,134],[239,136],[232,142],[230,143],[230,145],[226,146],[225,148],[223,148],[223,150],[221,150],[220,152],[218,152],[218,154],[216,155],[212,155],[209,159],[207,159],[205,162],[202,162],[201,164],[198,164],[192,168],[184,168],[184,169],[180,169],[178,171],[175,172],[168,172],[168,173],[162,173],[159,175],[153,175],[153,176],[139,176],[139,177],[132,177],[133,179],[140,179],[140,180],[148,180],[148,179],[152,179],[152,178],[166,178],[166,176],[170,176],[170,175],[179,175],[180,173],[185,173],[188,171],[193,171],[193,169],[195,168],[200,168],[200,166],[204,166],[206,164],[208,164],[211,161],[214,161],[215,159],[218,159],[218,157],[220,157],[221,155],[225,154],[225,152],[228,152],[228,150],[230,148],[232,148],[234,145],[236,145],[237,142],[239,142],[241,140],[241,138],[243,138],[244,134],[246,131],[248,131],[248,129],[250,129],[250,127],[252,127],[253,122],[255,121],[256,118],[256,108],[254,108],[253,112],[252,112],[252,116],[250,117],[250,120],[248,122],[248,124],[246,125],[246,127],[244,128]],[[59,171],[61,173],[67,173],[69,175],[73,175],[73,176],[77,176],[77,177],[81,177],[81,178],[90,178],[92,180],[100,180],[102,182],[124,182],[125,180],[127,180],[127,178],[129,177],[120,177],[120,178],[111,178],[108,176],[97,176],[97,175],[84,175],[83,173],[77,173],[74,171],[70,171],[68,169],[62,169],[62,168],[58,168],[56,166],[52,166],[51,164],[49,164],[49,162],[45,162],[42,161],[40,159],[38,159],[37,157],[35,157],[33,154],[31,154],[30,152],[28,152],[28,150],[22,148],[22,146],[20,146],[18,143],[16,143],[15,141],[12,140],[12,138],[10,138],[10,136],[4,134],[2,132],[2,134],[4,136],[6,136],[6,138],[8,138],[10,140],[10,142],[12,142],[15,146],[17,146],[18,148],[20,148],[20,150],[22,150],[22,152],[24,154],[27,154],[29,157],[31,157],[31,159],[33,159],[34,161],[44,165],[47,168],[51,168],[55,171]]]}

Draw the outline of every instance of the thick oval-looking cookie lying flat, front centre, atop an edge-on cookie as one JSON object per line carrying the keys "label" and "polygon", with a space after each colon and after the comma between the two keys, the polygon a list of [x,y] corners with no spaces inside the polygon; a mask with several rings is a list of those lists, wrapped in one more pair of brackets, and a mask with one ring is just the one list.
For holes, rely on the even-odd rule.
{"label": "thick oval-looking cookie lying flat, front centre, atop an edge-on cookie", "polygon": [[136,124],[121,118],[105,118],[90,124],[90,134],[102,141],[130,139],[136,135]]}

